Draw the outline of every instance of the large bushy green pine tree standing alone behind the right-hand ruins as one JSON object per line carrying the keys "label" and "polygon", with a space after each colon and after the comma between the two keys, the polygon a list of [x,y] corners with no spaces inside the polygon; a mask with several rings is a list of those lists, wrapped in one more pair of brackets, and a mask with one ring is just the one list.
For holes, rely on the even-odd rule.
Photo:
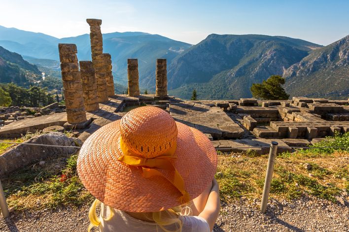
{"label": "large bushy green pine tree standing alone behind the right-hand ruins", "polygon": [[262,100],[287,100],[289,94],[281,85],[285,84],[285,79],[279,75],[273,75],[262,84],[252,84],[250,88],[252,96]]}

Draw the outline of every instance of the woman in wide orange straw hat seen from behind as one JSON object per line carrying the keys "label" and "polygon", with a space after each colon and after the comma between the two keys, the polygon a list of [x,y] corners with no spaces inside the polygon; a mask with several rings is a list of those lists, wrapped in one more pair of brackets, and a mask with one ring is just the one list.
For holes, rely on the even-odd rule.
{"label": "woman in wide orange straw hat seen from behind", "polygon": [[215,149],[200,131],[159,108],[136,108],[81,147],[77,172],[96,197],[89,230],[212,231],[220,209],[216,167]]}

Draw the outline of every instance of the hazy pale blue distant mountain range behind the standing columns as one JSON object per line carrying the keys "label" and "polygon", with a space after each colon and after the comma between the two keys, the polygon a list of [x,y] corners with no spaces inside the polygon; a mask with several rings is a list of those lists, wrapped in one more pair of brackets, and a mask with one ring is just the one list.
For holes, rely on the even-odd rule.
{"label": "hazy pale blue distant mountain range behind the standing columns", "polygon": [[[0,27],[0,46],[23,56],[59,60],[58,44],[74,43],[79,60],[91,60],[90,36],[83,34],[58,39],[42,33]],[[144,32],[113,32],[103,34],[104,52],[112,58],[115,83],[127,86],[127,58],[138,58],[140,82],[155,86],[156,58],[167,58],[168,63],[192,45]],[[35,63],[42,65],[42,62]],[[48,68],[48,66],[46,66]]]}

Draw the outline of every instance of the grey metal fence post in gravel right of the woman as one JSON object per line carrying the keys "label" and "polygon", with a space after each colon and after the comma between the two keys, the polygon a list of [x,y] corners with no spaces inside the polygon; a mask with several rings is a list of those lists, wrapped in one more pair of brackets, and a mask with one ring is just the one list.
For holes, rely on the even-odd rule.
{"label": "grey metal fence post in gravel right of the woman", "polygon": [[270,145],[267,174],[265,175],[265,181],[264,181],[263,196],[262,196],[262,202],[261,202],[262,213],[265,213],[265,211],[267,210],[270,184],[272,182],[274,162],[275,162],[277,150],[278,150],[278,142],[273,141]]}

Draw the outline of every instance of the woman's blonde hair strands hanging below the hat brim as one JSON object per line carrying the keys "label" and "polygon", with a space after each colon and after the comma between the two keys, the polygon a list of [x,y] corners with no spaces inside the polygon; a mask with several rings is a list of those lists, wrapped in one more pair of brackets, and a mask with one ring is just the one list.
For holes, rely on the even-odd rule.
{"label": "woman's blonde hair strands hanging below the hat brim", "polygon": [[[90,207],[89,214],[88,214],[88,217],[90,219],[88,232],[91,232],[92,228],[99,227],[101,224],[101,221],[96,213],[96,208],[99,204],[101,204],[101,208],[105,206],[103,203],[101,203],[99,200],[96,199]],[[109,221],[115,214],[115,211],[112,207],[110,206],[107,206],[107,207],[109,207],[110,215],[108,218],[103,218],[104,221]],[[187,204],[179,205],[179,206],[162,210],[159,212],[152,212],[150,217],[148,216],[149,213],[144,213],[147,219],[153,220],[165,232],[181,232],[182,221],[180,220],[179,216],[191,215],[191,214],[192,214],[192,210]],[[166,226],[170,226],[170,225],[175,225],[176,230],[170,231],[165,228]]]}

